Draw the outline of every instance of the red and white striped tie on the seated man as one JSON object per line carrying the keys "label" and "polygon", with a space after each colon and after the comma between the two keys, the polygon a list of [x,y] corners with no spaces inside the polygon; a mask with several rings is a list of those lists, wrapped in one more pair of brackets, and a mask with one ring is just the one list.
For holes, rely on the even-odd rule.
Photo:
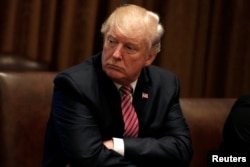
{"label": "red and white striped tie on the seated man", "polygon": [[124,121],[124,134],[125,137],[137,137],[139,130],[139,123],[134,106],[131,99],[131,86],[122,86],[121,108]]}

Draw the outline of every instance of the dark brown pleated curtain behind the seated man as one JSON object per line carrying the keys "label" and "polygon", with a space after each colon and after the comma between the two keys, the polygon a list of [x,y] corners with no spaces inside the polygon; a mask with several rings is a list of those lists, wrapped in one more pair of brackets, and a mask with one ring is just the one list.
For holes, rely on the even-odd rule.
{"label": "dark brown pleated curtain behind the seated man", "polygon": [[182,97],[250,92],[249,0],[8,0],[0,52],[61,71],[101,51],[101,24],[122,3],[161,16],[166,32],[154,64],[180,77]]}

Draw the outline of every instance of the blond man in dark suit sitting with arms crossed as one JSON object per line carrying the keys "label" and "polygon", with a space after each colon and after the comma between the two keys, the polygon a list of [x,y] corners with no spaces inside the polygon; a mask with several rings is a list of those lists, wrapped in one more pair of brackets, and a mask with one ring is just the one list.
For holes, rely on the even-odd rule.
{"label": "blond man in dark suit sitting with arms crossed", "polygon": [[43,166],[188,166],[192,143],[178,77],[151,65],[163,34],[158,15],[121,6],[101,32],[102,53],[54,80]]}

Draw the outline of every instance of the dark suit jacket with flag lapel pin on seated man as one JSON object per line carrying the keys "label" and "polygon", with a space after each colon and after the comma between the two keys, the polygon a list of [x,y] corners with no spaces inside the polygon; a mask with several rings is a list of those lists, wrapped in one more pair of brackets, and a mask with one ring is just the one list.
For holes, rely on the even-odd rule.
{"label": "dark suit jacket with flag lapel pin on seated man", "polygon": [[142,70],[133,95],[139,136],[124,138],[125,156],[102,144],[123,138],[124,124],[121,98],[102,71],[101,53],[57,75],[54,85],[44,167],[188,166],[192,144],[175,74],[156,66]]}

